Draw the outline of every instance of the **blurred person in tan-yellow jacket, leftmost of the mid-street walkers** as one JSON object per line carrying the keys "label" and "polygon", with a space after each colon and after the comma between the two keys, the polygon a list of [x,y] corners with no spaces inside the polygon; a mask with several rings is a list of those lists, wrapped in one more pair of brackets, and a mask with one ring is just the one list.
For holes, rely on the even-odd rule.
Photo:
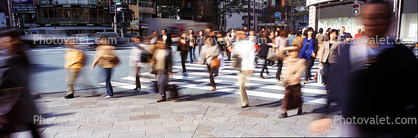
{"label": "blurred person in tan-yellow jacket, leftmost of the mid-street walkers", "polygon": [[81,68],[86,61],[86,55],[83,51],[75,47],[75,40],[65,41],[65,70],[67,72],[67,96],[64,98],[74,98],[74,82],[77,79]]}

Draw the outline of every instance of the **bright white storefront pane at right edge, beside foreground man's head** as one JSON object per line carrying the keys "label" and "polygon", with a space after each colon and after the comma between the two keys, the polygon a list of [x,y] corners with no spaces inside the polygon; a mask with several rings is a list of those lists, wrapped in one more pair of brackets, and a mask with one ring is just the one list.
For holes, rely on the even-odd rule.
{"label": "bright white storefront pane at right edge, beside foreground man's head", "polygon": [[402,14],[400,39],[402,41],[418,42],[418,13]]}

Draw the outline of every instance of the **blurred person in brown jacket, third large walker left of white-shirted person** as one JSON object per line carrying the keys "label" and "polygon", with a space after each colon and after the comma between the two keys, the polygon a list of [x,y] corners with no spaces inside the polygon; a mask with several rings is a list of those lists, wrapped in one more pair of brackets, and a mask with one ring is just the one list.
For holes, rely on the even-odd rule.
{"label": "blurred person in brown jacket, third large walker left of white-shirted person", "polygon": [[150,70],[151,74],[155,74],[157,78],[158,93],[161,96],[161,99],[157,100],[157,102],[164,102],[167,100],[165,91],[168,87],[168,76],[174,75],[174,73],[172,73],[172,53],[163,39],[158,39],[155,44],[157,50],[155,50],[152,56]]}

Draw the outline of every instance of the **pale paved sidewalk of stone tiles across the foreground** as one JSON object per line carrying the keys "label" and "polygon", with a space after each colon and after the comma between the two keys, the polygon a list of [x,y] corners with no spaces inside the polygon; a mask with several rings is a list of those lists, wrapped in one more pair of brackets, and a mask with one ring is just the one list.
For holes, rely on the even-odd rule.
{"label": "pale paved sidewalk of stone tiles across the foreground", "polygon": [[[81,96],[74,99],[43,96],[36,100],[41,116],[39,131],[47,138],[61,137],[284,137],[314,136],[308,125],[318,114],[278,119],[281,108],[198,101],[139,99],[135,96],[103,99]],[[306,112],[306,111],[304,111]],[[338,136],[338,127],[324,136]],[[12,137],[30,137],[28,131]]]}

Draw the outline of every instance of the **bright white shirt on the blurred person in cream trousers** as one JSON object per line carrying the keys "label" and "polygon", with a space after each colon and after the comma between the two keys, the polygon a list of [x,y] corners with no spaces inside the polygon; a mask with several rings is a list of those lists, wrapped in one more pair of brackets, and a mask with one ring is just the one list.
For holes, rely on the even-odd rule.
{"label": "bright white shirt on the blurred person in cream trousers", "polygon": [[233,52],[238,52],[242,58],[241,70],[254,70],[255,48],[254,42],[249,40],[239,40],[233,44]]}

